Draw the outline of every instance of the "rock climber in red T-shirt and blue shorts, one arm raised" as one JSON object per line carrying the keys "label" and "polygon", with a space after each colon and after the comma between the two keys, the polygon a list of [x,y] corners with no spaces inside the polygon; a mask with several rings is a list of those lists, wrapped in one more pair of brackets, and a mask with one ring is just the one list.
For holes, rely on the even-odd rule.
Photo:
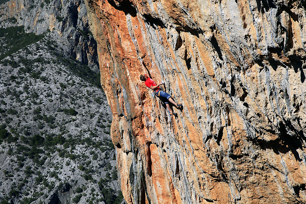
{"label": "rock climber in red T-shirt and blue shorts, one arm raised", "polygon": [[140,75],[140,80],[144,81],[146,86],[154,91],[155,96],[157,96],[162,102],[166,104],[170,112],[170,115],[174,115],[175,117],[177,117],[177,113],[174,113],[172,109],[170,108],[169,102],[171,102],[176,108],[182,107],[182,104],[181,103],[177,104],[176,102],[174,102],[171,96],[167,94],[166,92],[164,92],[162,88],[159,87],[161,85],[164,85],[165,84],[164,82],[157,85],[154,80],[152,80],[151,78],[147,76],[146,65],[144,64],[143,60],[141,60],[141,67],[142,67],[142,70],[144,71],[144,75]]}

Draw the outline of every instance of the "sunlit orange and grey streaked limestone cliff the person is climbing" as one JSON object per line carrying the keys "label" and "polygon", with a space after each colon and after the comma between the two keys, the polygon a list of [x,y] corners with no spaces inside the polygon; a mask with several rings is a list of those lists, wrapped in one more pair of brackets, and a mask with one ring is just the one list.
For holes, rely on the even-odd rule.
{"label": "sunlit orange and grey streaked limestone cliff the person is climbing", "polygon": [[85,3],[128,203],[306,203],[304,1]]}

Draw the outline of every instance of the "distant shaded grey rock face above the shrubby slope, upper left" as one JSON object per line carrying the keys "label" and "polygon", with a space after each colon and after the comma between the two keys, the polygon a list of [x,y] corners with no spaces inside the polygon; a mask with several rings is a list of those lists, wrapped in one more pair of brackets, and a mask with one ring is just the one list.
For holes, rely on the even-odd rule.
{"label": "distant shaded grey rock face above the shrubby slope, upper left", "polygon": [[24,26],[26,32],[50,32],[68,56],[96,72],[99,64],[84,1],[10,0],[0,5],[0,27]]}

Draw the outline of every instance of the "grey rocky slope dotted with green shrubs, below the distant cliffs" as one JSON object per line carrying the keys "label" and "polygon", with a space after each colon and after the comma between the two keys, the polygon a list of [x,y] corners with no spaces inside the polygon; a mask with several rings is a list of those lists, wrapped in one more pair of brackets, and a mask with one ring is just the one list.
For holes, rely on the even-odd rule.
{"label": "grey rocky slope dotted with green shrubs, below the distant cliffs", "polygon": [[0,203],[120,203],[99,75],[48,34],[1,60],[0,79]]}

